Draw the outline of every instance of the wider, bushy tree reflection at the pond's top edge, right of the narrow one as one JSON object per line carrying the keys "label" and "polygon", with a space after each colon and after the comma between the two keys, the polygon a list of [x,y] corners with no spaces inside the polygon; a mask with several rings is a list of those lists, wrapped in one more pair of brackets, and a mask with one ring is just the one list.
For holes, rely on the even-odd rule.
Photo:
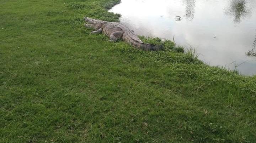
{"label": "wider, bushy tree reflection at the pond's top edge, right of the narrow one", "polygon": [[234,16],[234,23],[240,23],[242,18],[249,15],[249,10],[246,9],[246,0],[231,0],[230,5],[226,10],[227,15]]}

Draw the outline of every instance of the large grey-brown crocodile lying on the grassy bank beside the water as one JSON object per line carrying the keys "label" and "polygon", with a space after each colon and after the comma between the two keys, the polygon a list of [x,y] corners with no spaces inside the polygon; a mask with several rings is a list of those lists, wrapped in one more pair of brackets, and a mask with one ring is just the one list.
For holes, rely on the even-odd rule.
{"label": "large grey-brown crocodile lying on the grassy bank beside the water", "polygon": [[122,39],[128,44],[145,50],[145,51],[158,51],[160,47],[153,44],[146,44],[138,38],[133,30],[130,30],[126,25],[118,22],[107,22],[98,19],[92,19],[84,17],[85,27],[92,28],[95,31],[92,34],[103,33],[110,38],[110,41],[116,42],[118,39]]}

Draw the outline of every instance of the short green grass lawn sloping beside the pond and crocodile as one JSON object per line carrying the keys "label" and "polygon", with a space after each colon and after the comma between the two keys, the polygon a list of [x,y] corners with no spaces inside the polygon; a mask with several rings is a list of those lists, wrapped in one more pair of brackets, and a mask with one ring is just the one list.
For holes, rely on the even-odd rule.
{"label": "short green grass lawn sloping beside the pond and crocodile", "polygon": [[255,142],[256,76],[89,34],[118,2],[0,1],[0,142]]}

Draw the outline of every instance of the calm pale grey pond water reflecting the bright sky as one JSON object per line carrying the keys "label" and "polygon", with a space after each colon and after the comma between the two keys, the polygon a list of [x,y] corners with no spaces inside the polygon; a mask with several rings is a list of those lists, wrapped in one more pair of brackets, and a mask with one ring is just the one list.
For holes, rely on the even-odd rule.
{"label": "calm pale grey pond water reflecting the bright sky", "polygon": [[[209,65],[256,74],[256,0],[122,0],[111,10],[138,35],[175,38]],[[236,63],[236,64],[235,64]]]}

